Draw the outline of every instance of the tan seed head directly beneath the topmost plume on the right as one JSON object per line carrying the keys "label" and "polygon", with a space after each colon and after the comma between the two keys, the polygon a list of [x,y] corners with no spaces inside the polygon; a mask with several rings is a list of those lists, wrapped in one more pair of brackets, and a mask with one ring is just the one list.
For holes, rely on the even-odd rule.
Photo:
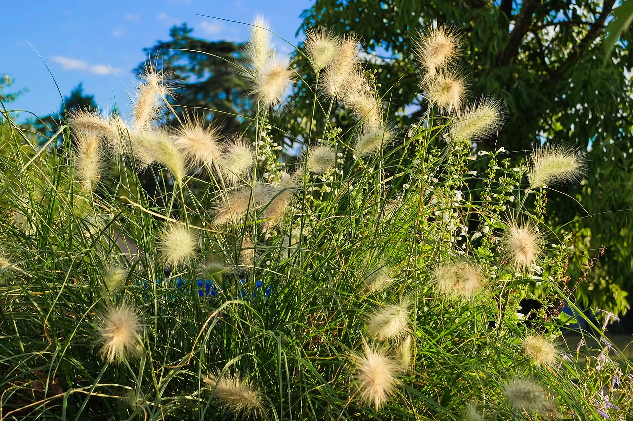
{"label": "tan seed head directly beneath the topmost plume on the right", "polygon": [[431,104],[447,113],[461,109],[467,93],[466,81],[454,72],[439,72],[425,77],[422,89]]}

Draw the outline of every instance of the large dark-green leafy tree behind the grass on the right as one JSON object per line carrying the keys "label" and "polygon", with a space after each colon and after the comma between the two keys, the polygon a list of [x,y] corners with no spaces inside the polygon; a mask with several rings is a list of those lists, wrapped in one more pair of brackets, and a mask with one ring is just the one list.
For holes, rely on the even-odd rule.
{"label": "large dark-green leafy tree behind the grass on the right", "polygon": [[[419,78],[413,77],[415,51],[406,46],[429,25],[455,27],[464,42],[467,73],[474,75],[473,96],[491,94],[507,111],[505,130],[483,147],[529,150],[561,143],[590,151],[591,171],[582,186],[565,190],[572,198],[557,200],[554,216],[556,223],[575,219],[571,228],[582,219],[588,228],[571,231],[586,256],[607,247],[598,268],[580,283],[579,298],[622,312],[628,306],[625,291],[633,287],[633,118],[625,76],[633,63],[624,48],[630,40],[625,33],[613,59],[603,64],[605,24],[614,6],[615,0],[316,0],[304,11],[299,30],[357,34],[373,54],[368,66],[382,70],[376,82],[385,99],[413,104],[391,109],[392,118],[416,121],[425,109],[415,106],[420,94]],[[298,56],[297,63],[302,61]],[[301,116],[310,115],[309,98],[301,87],[292,98],[298,125]],[[570,263],[575,278],[586,259]]]}

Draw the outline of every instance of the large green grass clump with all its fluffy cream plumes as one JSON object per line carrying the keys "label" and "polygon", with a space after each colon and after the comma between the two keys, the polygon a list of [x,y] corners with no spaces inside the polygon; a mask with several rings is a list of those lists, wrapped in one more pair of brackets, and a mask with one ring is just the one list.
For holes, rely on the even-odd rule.
{"label": "large green grass clump with all its fluffy cream plumes", "polygon": [[[313,133],[291,164],[266,116],[298,73],[263,25],[245,69],[258,112],[241,138],[158,126],[169,88],[156,73],[130,121],[75,113],[34,145],[4,116],[0,418],[629,414],[627,362],[558,346],[570,236],[547,223],[526,166],[472,143],[494,137],[501,111],[463,105],[464,84],[444,77],[454,34],[423,37],[436,97],[406,128],[385,118],[353,38],[311,34],[324,88],[307,92],[357,123]],[[563,158],[582,168],[559,148],[534,152],[530,176],[582,176],[561,176]],[[525,299],[541,304],[527,319]]]}

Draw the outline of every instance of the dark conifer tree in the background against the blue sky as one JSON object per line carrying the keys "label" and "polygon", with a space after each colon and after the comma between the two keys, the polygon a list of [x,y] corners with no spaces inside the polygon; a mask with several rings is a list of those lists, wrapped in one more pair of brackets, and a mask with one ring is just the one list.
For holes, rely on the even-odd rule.
{"label": "dark conifer tree in the background against the blue sky", "polygon": [[186,23],[172,27],[172,39],[144,49],[147,60],[135,72],[141,74],[153,66],[172,83],[173,113],[165,123],[197,113],[208,121],[213,119],[224,133],[233,133],[241,124],[236,114],[249,108],[246,78],[236,65],[242,62],[241,44],[210,42],[192,37],[192,31]]}

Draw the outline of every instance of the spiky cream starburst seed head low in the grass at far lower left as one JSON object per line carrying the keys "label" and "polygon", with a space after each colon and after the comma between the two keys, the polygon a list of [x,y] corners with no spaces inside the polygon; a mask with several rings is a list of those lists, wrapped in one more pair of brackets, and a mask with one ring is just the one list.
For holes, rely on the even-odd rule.
{"label": "spiky cream starburst seed head low in the grass at far lower left", "polygon": [[142,350],[142,324],[137,310],[125,303],[111,307],[101,317],[101,357],[108,362],[137,357]]}

